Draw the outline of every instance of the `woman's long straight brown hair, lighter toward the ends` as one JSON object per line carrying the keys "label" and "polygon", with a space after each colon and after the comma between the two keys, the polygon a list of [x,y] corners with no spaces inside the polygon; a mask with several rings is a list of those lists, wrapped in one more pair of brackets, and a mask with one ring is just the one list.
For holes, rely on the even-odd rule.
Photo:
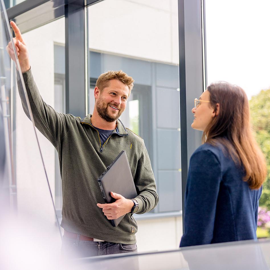
{"label": "woman's long straight brown hair, lighter toward the ends", "polygon": [[251,189],[259,189],[267,174],[266,162],[252,134],[248,98],[244,90],[227,82],[207,87],[210,104],[219,113],[207,126],[202,141],[216,145],[220,142],[234,162],[243,165],[244,181]]}

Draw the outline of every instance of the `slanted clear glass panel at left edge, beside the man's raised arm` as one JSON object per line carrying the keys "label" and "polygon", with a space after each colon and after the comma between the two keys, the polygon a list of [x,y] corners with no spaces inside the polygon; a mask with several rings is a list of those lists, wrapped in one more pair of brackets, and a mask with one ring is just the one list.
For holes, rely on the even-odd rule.
{"label": "slanted clear glass panel at left edge, beside the man's raised arm", "polygon": [[40,150],[44,138],[34,126],[19,59],[11,61],[6,50],[15,45],[0,1],[0,268],[24,269],[25,262],[34,269],[35,261],[50,265],[60,257],[61,229],[54,179]]}

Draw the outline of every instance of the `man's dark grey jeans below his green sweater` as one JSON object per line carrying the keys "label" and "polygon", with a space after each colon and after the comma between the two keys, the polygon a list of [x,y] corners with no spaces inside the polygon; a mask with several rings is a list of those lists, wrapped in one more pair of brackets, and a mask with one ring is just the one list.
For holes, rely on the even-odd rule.
{"label": "man's dark grey jeans below his green sweater", "polygon": [[112,242],[94,242],[70,239],[63,236],[62,255],[68,258],[92,257],[116,253],[137,253],[137,245],[126,245]]}

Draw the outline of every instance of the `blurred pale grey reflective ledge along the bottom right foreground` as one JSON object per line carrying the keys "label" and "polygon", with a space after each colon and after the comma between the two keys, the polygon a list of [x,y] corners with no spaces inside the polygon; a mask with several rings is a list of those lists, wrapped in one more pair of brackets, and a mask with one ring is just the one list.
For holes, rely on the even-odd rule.
{"label": "blurred pale grey reflective ledge along the bottom right foreground", "polygon": [[85,258],[79,269],[190,269],[190,270],[268,270],[270,239],[260,242],[242,241],[183,248],[174,251],[129,256]]}

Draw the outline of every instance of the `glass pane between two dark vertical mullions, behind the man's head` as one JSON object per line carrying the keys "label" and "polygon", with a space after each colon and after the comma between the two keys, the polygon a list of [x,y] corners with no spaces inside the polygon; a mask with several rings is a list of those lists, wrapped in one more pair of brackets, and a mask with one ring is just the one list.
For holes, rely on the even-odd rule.
{"label": "glass pane between two dark vertical mullions, behind the man's head", "polygon": [[[95,105],[93,89],[101,73],[122,69],[133,77],[134,88],[120,119],[126,128],[144,139],[148,150],[159,194],[159,204],[152,213],[180,213],[182,199],[179,91],[177,91],[179,90],[177,0],[147,1],[147,3],[141,0],[103,0],[88,7],[88,18],[90,51],[88,112],[93,112]],[[173,228],[177,226],[177,236],[174,231],[168,246],[158,249],[178,246],[180,238],[177,241],[175,239],[181,235],[181,226],[178,226],[178,223],[176,225],[179,221],[176,220],[163,220],[167,222],[167,226]],[[153,223],[150,222],[149,226]],[[157,225],[160,226],[160,230],[163,228],[161,223]],[[141,231],[142,235],[146,230]],[[140,251],[153,249],[152,245],[148,247],[145,244],[140,245]]]}

